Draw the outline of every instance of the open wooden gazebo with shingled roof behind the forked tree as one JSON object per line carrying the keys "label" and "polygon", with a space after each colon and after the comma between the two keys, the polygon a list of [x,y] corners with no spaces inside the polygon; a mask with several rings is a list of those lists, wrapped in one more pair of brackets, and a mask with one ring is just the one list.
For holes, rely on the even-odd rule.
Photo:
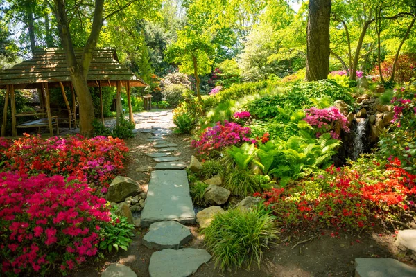
{"label": "open wooden gazebo with shingled roof behind the forked tree", "polygon": [[[83,48],[75,51],[77,59],[83,54]],[[99,87],[101,102],[101,120],[103,116],[103,97],[101,87],[117,87],[116,93],[116,112],[117,119],[121,114],[121,87],[126,87],[130,121],[133,121],[133,113],[130,98],[130,87],[146,87],[147,84],[130,69],[122,66],[117,57],[116,51],[112,48],[97,48],[94,50],[91,66],[87,75],[89,87]],[[76,95],[69,76],[67,60],[64,51],[59,48],[49,48],[36,51],[31,60],[26,60],[16,64],[10,69],[0,72],[0,89],[6,89],[5,105],[3,108],[3,125],[1,126],[1,136],[6,133],[8,98],[12,111],[12,135],[17,136],[17,128],[21,127],[49,127],[53,135],[53,126],[58,129],[58,118],[51,116],[49,100],[49,88],[60,87],[65,105],[69,114],[69,128],[73,122],[76,127]],[[65,87],[70,87],[72,92],[73,106],[69,107],[69,102],[65,94]],[[40,89],[41,110],[17,114],[15,103],[15,89]],[[17,116],[40,116],[43,118],[33,120],[21,125],[16,125]],[[46,116],[46,118],[44,118]]]}

